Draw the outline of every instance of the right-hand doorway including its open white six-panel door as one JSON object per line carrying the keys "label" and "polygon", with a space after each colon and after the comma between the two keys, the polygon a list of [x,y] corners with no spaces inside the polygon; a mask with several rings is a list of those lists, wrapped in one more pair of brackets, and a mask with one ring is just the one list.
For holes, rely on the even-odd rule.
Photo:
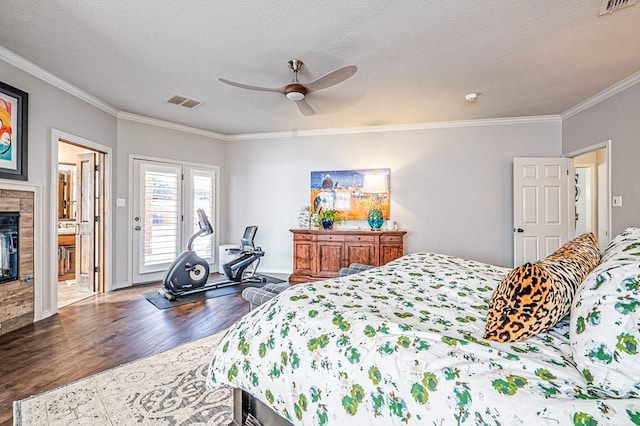
{"label": "right-hand doorway including its open white six-panel door", "polygon": [[593,232],[601,249],[611,235],[611,141],[562,158],[514,159],[514,266],[549,255]]}

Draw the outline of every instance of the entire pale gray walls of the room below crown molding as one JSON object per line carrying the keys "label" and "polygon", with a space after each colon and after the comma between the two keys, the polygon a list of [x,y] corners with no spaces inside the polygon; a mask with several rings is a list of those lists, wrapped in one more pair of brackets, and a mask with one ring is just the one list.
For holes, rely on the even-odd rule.
{"label": "entire pale gray walls of the room below crown molding", "polygon": [[[639,224],[640,84],[563,123],[461,123],[453,128],[221,141],[116,119],[4,61],[0,75],[30,94],[28,183],[42,188],[45,203],[51,194],[52,128],[113,149],[116,286],[127,283],[131,259],[131,154],[220,166],[220,242],[236,242],[246,225],[259,225],[258,243],[267,252],[264,271],[291,270],[288,230],[296,226],[299,208],[309,202],[312,170],[391,168],[391,218],[408,231],[407,252],[436,251],[509,266],[512,158],[559,156],[611,139],[612,195],[624,197],[623,207],[612,209],[613,232]],[[125,198],[127,207],[116,208],[116,198]],[[44,247],[55,235],[48,210],[43,206],[41,215]],[[49,257],[45,253],[42,259],[44,271],[49,271]],[[44,280],[54,283],[49,278]]]}

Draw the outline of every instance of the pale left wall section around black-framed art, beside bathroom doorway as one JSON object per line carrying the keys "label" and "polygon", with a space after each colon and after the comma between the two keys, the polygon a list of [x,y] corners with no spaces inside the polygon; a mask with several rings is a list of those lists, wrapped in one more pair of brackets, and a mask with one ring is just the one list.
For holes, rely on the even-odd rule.
{"label": "pale left wall section around black-framed art, beside bathroom doorway", "polygon": [[[0,76],[2,82],[23,90],[29,94],[28,123],[28,183],[43,189],[43,205],[36,205],[36,217],[39,217],[42,228],[41,270],[42,276],[38,285],[45,289],[42,294],[42,308],[51,312],[53,306],[52,293],[55,295],[57,277],[50,276],[51,253],[46,249],[53,243],[56,230],[50,228],[52,215],[56,217],[55,206],[50,206],[52,188],[56,182],[50,182],[51,164],[51,131],[57,129],[80,136],[99,144],[115,147],[116,118],[89,103],[78,99],[45,81],[34,77],[21,69],[0,60]],[[13,184],[16,181],[0,179],[3,183]],[[49,291],[53,289],[52,291]]]}

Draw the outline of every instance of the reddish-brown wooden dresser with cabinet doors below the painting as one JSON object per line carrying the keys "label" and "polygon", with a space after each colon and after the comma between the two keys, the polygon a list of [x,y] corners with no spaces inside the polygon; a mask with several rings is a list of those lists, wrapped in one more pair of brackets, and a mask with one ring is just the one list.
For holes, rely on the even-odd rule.
{"label": "reddish-brown wooden dresser with cabinet doors below the painting", "polygon": [[352,263],[381,266],[404,254],[406,231],[291,229],[291,283],[320,281]]}

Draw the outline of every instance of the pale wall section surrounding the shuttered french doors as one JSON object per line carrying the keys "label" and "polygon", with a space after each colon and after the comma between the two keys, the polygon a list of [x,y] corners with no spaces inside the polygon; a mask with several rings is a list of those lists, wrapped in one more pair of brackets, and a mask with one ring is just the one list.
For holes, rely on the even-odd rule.
{"label": "pale wall section surrounding the shuttered french doors", "polygon": [[[227,200],[225,178],[227,142],[212,137],[175,129],[149,125],[132,120],[118,119],[118,153],[116,158],[116,198],[124,198],[127,205],[117,207],[114,213],[116,239],[114,242],[115,287],[130,286],[128,271],[133,255],[129,251],[130,182],[129,158],[132,154],[165,159],[181,163],[198,163],[220,167],[220,200]],[[221,224],[227,221],[226,202],[221,202]],[[224,226],[216,229],[220,241],[227,238]]]}

